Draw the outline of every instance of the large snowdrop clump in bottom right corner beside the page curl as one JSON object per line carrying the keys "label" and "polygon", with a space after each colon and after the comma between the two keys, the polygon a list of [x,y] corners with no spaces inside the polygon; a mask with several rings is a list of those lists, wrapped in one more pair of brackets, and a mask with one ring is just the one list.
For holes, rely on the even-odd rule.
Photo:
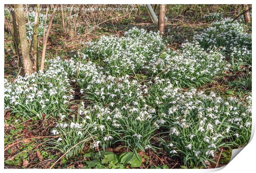
{"label": "large snowdrop clump in bottom right corner beside the page curl", "polygon": [[216,151],[229,145],[246,145],[251,136],[251,96],[221,98],[211,92],[191,89],[175,96],[161,115],[169,138],[162,139],[171,156],[178,156],[186,166],[196,167]]}

